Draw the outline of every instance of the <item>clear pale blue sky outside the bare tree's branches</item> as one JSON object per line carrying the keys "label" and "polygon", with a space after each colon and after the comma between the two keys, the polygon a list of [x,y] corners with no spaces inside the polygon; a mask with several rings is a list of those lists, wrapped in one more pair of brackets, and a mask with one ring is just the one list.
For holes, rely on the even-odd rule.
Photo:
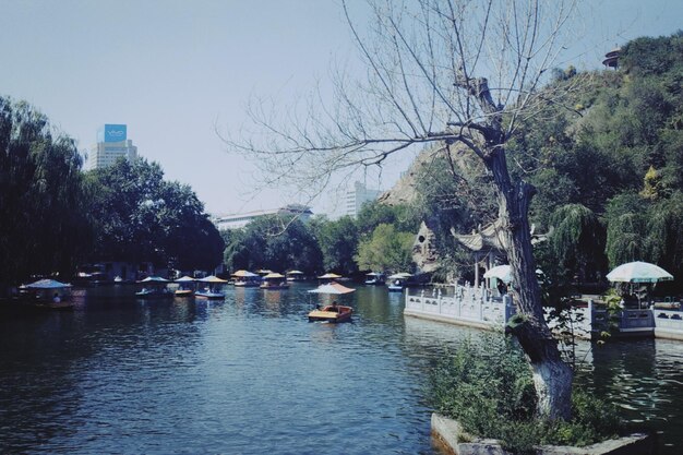
{"label": "clear pale blue sky outside the bare tree's branches", "polygon": [[[599,68],[615,45],[683,28],[681,0],[583,3],[562,62],[579,69]],[[128,124],[139,154],[190,184],[212,214],[304,202],[254,191],[255,169],[216,130],[244,124],[253,96],[292,104],[324,85],[335,61],[360,71],[355,56],[338,0],[0,0],[0,96],[37,107],[83,152],[103,124]],[[411,158],[359,180],[390,189]],[[332,191],[313,212],[342,206]]]}

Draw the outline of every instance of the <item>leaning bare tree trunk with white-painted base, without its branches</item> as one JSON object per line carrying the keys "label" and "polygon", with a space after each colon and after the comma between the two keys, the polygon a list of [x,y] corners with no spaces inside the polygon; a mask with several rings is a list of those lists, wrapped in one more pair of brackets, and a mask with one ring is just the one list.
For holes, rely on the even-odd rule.
{"label": "leaning bare tree trunk with white-painted base, without its branches", "polygon": [[498,189],[499,216],[503,221],[501,235],[513,273],[512,295],[518,316],[510,328],[530,360],[538,398],[537,414],[551,420],[568,420],[572,415],[573,372],[562,361],[556,340],[546,323],[536,277],[528,219],[536,189],[524,181],[517,184],[511,182],[502,146],[489,151],[484,163],[493,173]]}

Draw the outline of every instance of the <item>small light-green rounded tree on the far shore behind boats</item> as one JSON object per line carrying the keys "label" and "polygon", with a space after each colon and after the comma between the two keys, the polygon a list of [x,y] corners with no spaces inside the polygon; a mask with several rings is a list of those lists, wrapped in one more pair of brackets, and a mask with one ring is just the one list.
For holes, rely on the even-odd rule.
{"label": "small light-green rounded tree on the far shore behind boats", "polygon": [[411,232],[396,231],[393,225],[381,224],[372,237],[358,246],[358,268],[375,272],[406,272],[412,270]]}

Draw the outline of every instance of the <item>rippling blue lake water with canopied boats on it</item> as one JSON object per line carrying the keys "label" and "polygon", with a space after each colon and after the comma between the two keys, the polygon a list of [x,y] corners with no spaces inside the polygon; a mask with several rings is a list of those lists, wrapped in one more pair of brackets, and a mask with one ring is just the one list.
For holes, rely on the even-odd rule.
{"label": "rippling blue lake water with canopied boats on it", "polygon": [[[88,289],[73,312],[0,312],[0,452],[438,454],[430,362],[467,328],[403,318],[360,287],[351,324],[309,323],[312,300],[227,288],[224,302]],[[584,382],[682,445],[683,344],[587,349]],[[669,452],[666,452],[669,451]]]}

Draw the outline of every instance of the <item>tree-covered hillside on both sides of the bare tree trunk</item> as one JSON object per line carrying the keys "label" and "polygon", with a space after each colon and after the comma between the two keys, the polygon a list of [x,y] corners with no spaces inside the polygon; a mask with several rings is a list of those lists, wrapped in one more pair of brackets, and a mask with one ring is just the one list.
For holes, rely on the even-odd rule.
{"label": "tree-covered hillside on both sides of the bare tree trunk", "polygon": [[[619,61],[615,71],[554,70],[542,89],[565,91],[567,99],[523,119],[507,145],[511,173],[537,189],[534,229],[549,232],[535,249],[537,261],[560,286],[604,284],[610,268],[634,260],[683,276],[683,34],[631,41]],[[492,177],[455,146],[430,146],[417,164],[411,180],[399,183],[399,200],[408,202],[390,195],[366,205],[358,219],[312,220],[319,271],[405,267],[406,234],[424,220],[440,256],[434,279],[471,280],[471,259],[452,232],[496,218]],[[392,243],[395,254],[378,254]],[[392,256],[403,260],[382,262]]]}

